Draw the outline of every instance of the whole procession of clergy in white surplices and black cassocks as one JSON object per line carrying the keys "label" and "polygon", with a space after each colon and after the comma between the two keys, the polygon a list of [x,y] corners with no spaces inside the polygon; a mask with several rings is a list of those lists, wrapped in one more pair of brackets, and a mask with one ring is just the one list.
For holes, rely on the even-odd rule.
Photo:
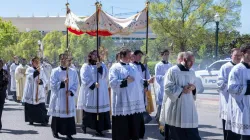
{"label": "whole procession of clergy in white surplices and black cassocks", "polygon": [[[194,54],[180,52],[173,65],[169,50],[162,50],[154,76],[146,56],[142,62],[143,55],[141,50],[122,48],[116,62],[106,66],[92,50],[80,70],[67,51],[59,55],[55,68],[38,57],[29,65],[14,57],[7,69],[0,59],[0,130],[8,98],[22,103],[29,125],[47,126],[51,117],[54,138],[60,134],[72,140],[81,123],[83,133],[89,128],[105,137],[103,131],[112,129],[113,140],[143,139],[154,112],[153,91],[155,119],[165,140],[201,140],[195,101],[204,88],[192,69]],[[250,140],[250,44],[232,49],[231,58],[221,67],[217,83],[224,139]]]}

